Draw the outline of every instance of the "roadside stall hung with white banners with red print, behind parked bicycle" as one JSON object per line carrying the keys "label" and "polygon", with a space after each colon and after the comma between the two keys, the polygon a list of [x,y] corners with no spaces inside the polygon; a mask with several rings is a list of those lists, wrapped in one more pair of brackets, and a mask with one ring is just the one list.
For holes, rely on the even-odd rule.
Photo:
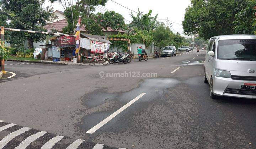
{"label": "roadside stall hung with white banners with red print, behind parked bicycle", "polygon": [[81,62],[88,57],[106,56],[112,44],[106,36],[80,33],[80,56]]}

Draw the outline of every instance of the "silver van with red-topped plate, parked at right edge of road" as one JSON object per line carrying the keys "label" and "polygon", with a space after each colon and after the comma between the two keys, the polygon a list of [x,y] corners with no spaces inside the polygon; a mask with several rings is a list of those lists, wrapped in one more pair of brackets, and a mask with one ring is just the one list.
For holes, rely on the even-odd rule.
{"label": "silver van with red-topped plate, parked at right edge of road", "polygon": [[210,97],[256,99],[256,35],[221,35],[209,39],[204,82]]}

